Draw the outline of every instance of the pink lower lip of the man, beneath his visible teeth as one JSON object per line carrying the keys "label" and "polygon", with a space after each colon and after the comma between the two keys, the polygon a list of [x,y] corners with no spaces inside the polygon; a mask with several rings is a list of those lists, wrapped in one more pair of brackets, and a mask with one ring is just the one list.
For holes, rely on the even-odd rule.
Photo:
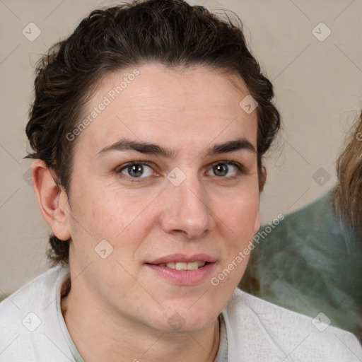
{"label": "pink lower lip of the man, beneath his visible teeth", "polygon": [[215,263],[205,264],[204,267],[194,270],[176,270],[158,265],[146,264],[153,271],[168,279],[174,284],[182,286],[193,286],[200,284],[211,276]]}

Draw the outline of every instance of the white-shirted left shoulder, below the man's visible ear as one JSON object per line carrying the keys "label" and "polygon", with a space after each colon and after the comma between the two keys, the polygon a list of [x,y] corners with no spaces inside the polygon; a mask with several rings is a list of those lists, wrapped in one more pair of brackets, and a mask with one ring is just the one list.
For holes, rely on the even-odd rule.
{"label": "white-shirted left shoulder, below the man's visible ear", "polygon": [[59,326],[57,303],[60,284],[67,274],[68,269],[49,269],[0,303],[2,362],[33,362],[49,356],[54,357],[53,362],[64,361],[67,347]]}

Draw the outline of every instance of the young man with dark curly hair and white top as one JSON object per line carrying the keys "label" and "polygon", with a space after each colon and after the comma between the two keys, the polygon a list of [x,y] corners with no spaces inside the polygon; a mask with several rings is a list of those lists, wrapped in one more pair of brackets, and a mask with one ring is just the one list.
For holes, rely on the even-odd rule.
{"label": "young man with dark curly hair and white top", "polygon": [[26,132],[56,266],[1,302],[1,361],[358,361],[353,334],[237,289],[273,96],[241,26],[182,0],[53,47]]}

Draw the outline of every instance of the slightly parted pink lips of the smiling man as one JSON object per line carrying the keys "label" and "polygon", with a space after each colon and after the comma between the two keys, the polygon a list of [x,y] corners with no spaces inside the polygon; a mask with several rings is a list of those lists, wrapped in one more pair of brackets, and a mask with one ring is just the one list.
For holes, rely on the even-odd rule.
{"label": "slightly parted pink lips of the smiling man", "polygon": [[[167,264],[169,262],[206,262],[204,267],[194,270],[176,270],[168,267],[160,267],[157,264]],[[146,267],[150,268],[153,272],[162,278],[170,281],[172,284],[179,286],[194,286],[209,280],[212,272],[214,271],[216,259],[210,255],[197,254],[197,255],[184,255],[173,254],[165,257],[160,257],[152,262],[146,263]]]}

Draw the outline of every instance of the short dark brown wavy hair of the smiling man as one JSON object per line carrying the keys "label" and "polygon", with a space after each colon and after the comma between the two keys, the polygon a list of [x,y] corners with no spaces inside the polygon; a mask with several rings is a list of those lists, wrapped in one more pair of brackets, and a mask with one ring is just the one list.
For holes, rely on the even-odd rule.
{"label": "short dark brown wavy hair of the smiling man", "polygon": [[[105,74],[147,62],[209,66],[241,76],[258,103],[257,163],[262,170],[262,155],[279,131],[280,116],[271,103],[273,87],[247,49],[241,21],[235,25],[182,0],[134,1],[93,11],[37,64],[26,127],[33,148],[28,157],[44,160],[68,197],[75,141],[66,134],[80,122],[91,91]],[[69,242],[50,236],[53,264],[68,264]]]}

